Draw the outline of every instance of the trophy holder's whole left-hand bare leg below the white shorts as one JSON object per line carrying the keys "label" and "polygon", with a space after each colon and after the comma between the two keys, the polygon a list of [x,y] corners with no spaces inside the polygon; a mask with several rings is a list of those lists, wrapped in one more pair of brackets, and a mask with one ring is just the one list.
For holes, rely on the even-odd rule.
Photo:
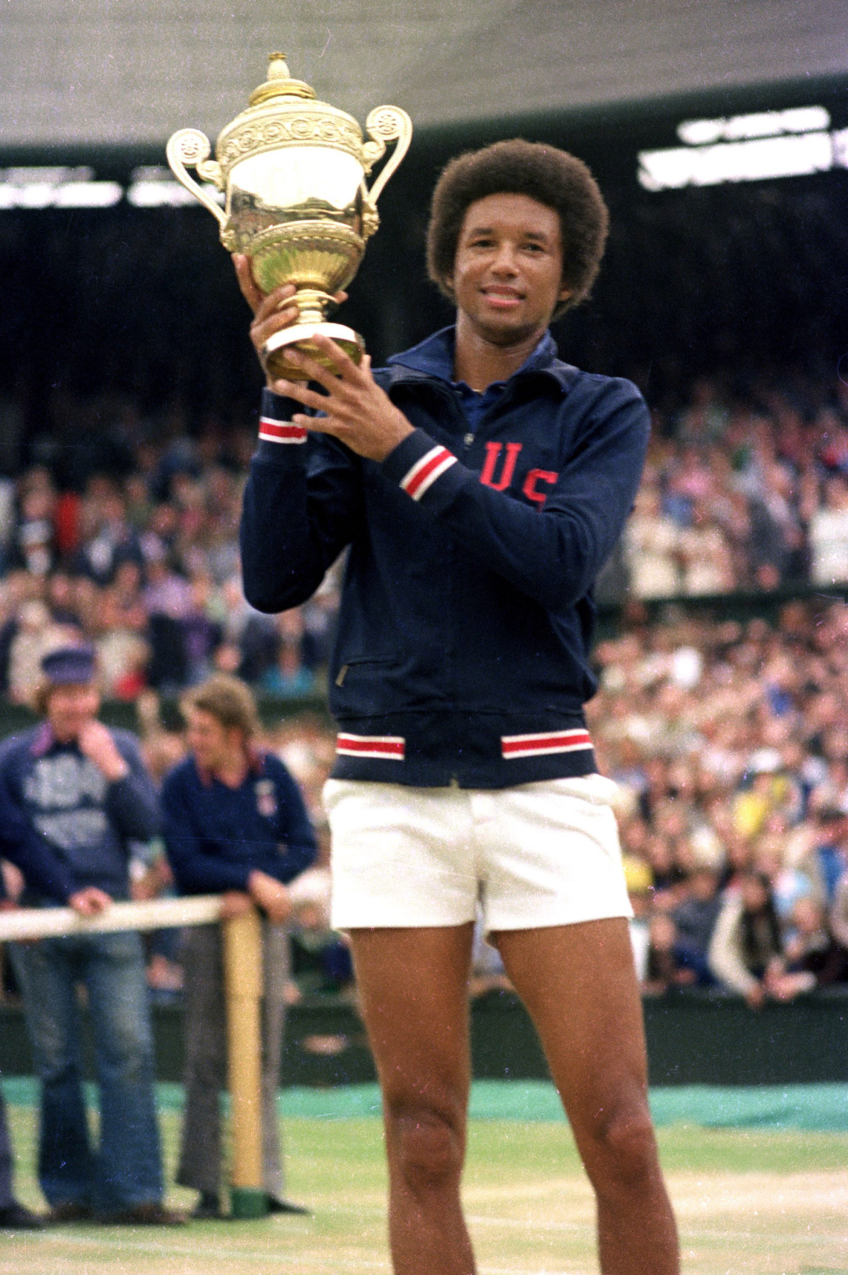
{"label": "trophy holder's whole left-hand bare leg below the white shorts", "polygon": [[472,927],[355,929],[351,940],[383,1089],[395,1275],[473,1275],[459,1205]]}

